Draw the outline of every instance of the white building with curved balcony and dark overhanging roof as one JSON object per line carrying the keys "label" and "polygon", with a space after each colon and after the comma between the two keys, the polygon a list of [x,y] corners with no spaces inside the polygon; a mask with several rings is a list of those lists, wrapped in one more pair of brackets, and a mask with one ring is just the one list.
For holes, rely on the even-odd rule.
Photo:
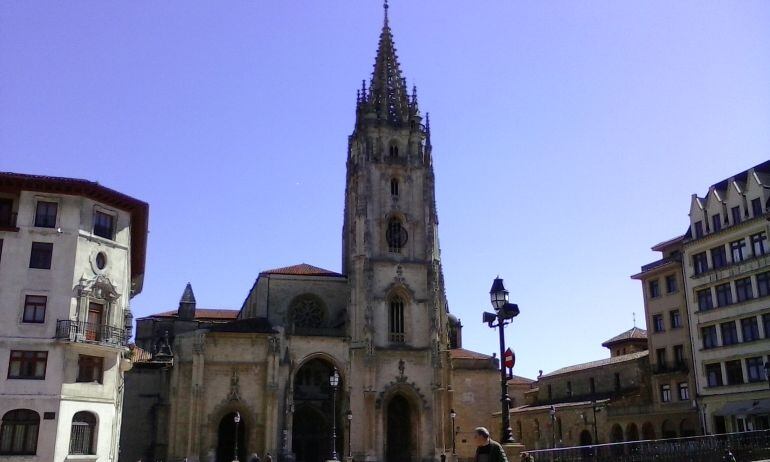
{"label": "white building with curved balcony and dark overhanging roof", "polygon": [[118,459],[147,217],[97,183],[0,173],[0,459]]}

